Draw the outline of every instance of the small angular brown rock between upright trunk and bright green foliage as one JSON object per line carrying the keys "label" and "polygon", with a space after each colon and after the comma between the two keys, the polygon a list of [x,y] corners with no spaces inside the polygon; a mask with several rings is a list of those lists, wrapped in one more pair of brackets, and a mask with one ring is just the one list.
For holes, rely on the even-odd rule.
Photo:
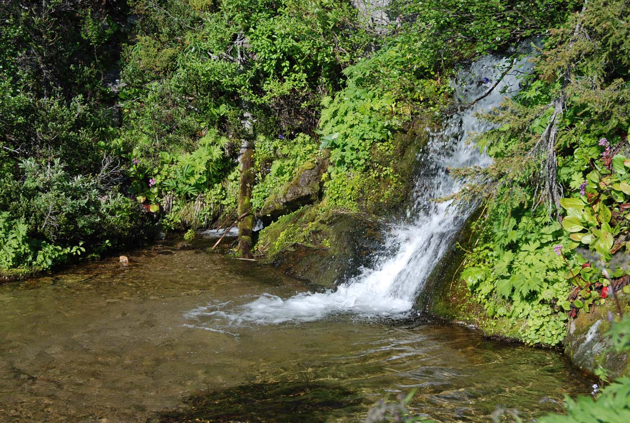
{"label": "small angular brown rock between upright trunk and bright green foliage", "polygon": [[321,195],[321,177],[326,168],[326,160],[302,165],[295,178],[280,190],[280,194],[266,200],[257,217],[267,226],[280,216],[316,202]]}

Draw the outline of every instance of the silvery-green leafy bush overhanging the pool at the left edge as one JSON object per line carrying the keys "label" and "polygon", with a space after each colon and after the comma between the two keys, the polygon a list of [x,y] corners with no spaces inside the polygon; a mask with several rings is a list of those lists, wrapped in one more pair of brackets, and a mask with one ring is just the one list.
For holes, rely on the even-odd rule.
{"label": "silvery-green leafy bush overhanging the pool at the left edge", "polygon": [[5,175],[1,184],[8,193],[0,198],[8,201],[3,206],[1,269],[49,269],[72,255],[98,255],[139,236],[137,206],[103,186],[105,175],[73,177],[59,159],[25,159],[19,167],[23,180]]}

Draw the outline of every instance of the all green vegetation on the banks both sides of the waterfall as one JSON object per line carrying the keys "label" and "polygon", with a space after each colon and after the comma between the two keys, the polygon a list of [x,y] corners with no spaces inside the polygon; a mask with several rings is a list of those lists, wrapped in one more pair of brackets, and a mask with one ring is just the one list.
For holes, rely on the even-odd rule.
{"label": "all green vegetation on the banks both sides of the waterfall", "polygon": [[494,164],[452,171],[483,200],[461,273],[481,325],[557,345],[570,316],[630,289],[614,263],[630,239],[629,9],[393,0],[375,20],[349,0],[3,2],[1,272],[230,224],[243,256],[325,250],[331,216],[401,209],[459,66],[542,37],[476,139]]}

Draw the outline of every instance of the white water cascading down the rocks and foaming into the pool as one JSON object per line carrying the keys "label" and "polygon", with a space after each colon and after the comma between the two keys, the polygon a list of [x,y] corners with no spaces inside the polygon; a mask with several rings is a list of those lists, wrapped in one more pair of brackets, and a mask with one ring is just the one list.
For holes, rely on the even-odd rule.
{"label": "white water cascading down the rocks and foaming into the pool", "polygon": [[449,168],[490,163],[490,159],[467,144],[467,140],[471,134],[493,127],[478,119],[477,113],[489,112],[500,105],[502,98],[518,91],[518,77],[530,71],[527,59],[505,73],[488,95],[471,107],[466,105],[486,94],[509,66],[507,59],[488,55],[459,72],[454,87],[462,111],[450,117],[442,130],[432,134],[420,154],[424,163],[416,177],[415,204],[408,212],[406,223],[394,226],[389,235],[388,253],[379,257],[371,269],[363,269],[360,275],[335,291],[302,293],[288,299],[265,294],[241,306],[208,304],[189,311],[186,316],[195,319],[203,316],[206,323],[202,327],[217,330],[244,322],[309,322],[343,312],[360,316],[408,315],[428,274],[474,209],[433,199],[459,190],[459,183],[449,176]]}

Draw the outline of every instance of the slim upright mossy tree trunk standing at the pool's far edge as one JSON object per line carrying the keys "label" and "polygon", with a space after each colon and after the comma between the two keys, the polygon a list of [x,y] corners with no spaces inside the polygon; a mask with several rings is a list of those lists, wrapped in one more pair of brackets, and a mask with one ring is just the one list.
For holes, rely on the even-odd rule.
{"label": "slim upright mossy tree trunk standing at the pool's far edge", "polygon": [[241,258],[251,258],[251,235],[254,227],[254,214],[251,210],[251,188],[254,185],[253,142],[243,139],[241,142],[241,183],[239,185],[238,215],[238,252]]}

